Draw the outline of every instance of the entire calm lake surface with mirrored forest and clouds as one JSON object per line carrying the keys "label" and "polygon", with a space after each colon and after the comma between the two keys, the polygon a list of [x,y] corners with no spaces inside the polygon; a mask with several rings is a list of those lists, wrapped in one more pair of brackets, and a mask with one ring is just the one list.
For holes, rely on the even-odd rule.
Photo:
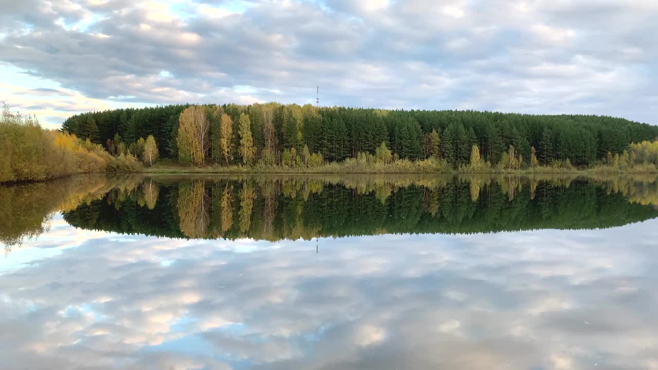
{"label": "entire calm lake surface with mirrored forest and clouds", "polygon": [[0,369],[658,369],[656,176],[0,186]]}

